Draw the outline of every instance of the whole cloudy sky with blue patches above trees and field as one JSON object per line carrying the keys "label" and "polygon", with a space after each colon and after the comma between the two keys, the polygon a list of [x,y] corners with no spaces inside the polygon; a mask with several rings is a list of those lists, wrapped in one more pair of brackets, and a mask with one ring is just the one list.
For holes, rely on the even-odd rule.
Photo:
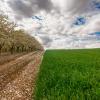
{"label": "whole cloudy sky with blue patches above trees and field", "polygon": [[0,0],[0,13],[45,49],[100,48],[100,0]]}

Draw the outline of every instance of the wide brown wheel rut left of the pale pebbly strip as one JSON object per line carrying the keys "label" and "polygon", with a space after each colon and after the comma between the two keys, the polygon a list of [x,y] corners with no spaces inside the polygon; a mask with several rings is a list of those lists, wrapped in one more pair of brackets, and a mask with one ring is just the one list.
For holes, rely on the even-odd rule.
{"label": "wide brown wheel rut left of the pale pebbly strip", "polygon": [[32,60],[32,55],[33,53],[22,56],[15,61],[11,61],[2,66],[2,70],[0,70],[0,91],[6,86],[6,84],[14,80],[19,72],[23,70],[24,66]]}

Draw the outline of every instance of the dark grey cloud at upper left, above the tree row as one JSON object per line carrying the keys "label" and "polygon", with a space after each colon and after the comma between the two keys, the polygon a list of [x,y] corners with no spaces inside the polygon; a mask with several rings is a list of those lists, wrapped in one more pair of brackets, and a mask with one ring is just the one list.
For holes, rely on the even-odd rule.
{"label": "dark grey cloud at upper left, above the tree row", "polygon": [[[25,3],[26,2],[26,3]],[[50,11],[52,3],[50,0],[9,0],[8,5],[16,14],[16,18],[31,17],[40,10]]]}

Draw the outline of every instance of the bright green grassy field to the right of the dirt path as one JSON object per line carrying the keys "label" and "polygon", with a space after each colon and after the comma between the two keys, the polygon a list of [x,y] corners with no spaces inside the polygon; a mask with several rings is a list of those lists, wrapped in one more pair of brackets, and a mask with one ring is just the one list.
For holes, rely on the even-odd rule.
{"label": "bright green grassy field to the right of the dirt path", "polygon": [[47,50],[35,100],[100,100],[100,49]]}

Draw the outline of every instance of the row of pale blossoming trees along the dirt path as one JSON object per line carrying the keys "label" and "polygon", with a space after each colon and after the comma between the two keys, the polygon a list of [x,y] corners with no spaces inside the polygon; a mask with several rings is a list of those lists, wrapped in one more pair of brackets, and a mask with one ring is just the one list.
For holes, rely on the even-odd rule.
{"label": "row of pale blossoming trees along the dirt path", "polygon": [[16,24],[0,15],[0,53],[31,52],[43,50],[41,44],[23,30],[15,30]]}

